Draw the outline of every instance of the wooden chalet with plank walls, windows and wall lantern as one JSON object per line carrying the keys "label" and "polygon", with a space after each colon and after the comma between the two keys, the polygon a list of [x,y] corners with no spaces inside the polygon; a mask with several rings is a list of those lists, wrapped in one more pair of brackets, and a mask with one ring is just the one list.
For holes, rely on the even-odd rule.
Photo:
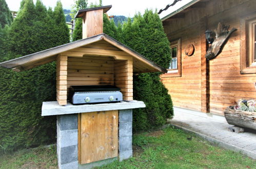
{"label": "wooden chalet with plank walls, windows and wall lantern", "polygon": [[[173,57],[162,81],[175,107],[223,115],[239,99],[256,98],[254,0],[193,0],[165,15],[162,23]],[[206,31],[221,29],[232,33],[219,46],[213,33],[208,44]],[[219,52],[206,59],[211,48]]]}

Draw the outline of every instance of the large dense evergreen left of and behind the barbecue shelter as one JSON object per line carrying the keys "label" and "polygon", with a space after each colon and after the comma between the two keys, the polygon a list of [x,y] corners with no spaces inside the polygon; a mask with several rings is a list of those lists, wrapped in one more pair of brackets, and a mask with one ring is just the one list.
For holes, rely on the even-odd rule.
{"label": "large dense evergreen left of and behind the barbecue shelter", "polygon": [[[63,41],[55,40],[54,28],[65,24],[63,19],[55,24],[56,20],[40,0],[35,5],[23,0],[8,28],[1,61],[67,43],[69,33],[65,31],[58,34]],[[42,102],[56,99],[55,62],[18,73],[1,68],[0,73],[0,145],[11,151],[55,142],[55,117],[41,116]]]}

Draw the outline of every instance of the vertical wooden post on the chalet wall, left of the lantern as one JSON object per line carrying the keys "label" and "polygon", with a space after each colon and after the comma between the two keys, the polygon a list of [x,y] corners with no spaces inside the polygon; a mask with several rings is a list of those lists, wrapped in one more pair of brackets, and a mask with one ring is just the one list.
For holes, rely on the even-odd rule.
{"label": "vertical wooden post on the chalet wall, left of the lantern", "polygon": [[207,52],[207,41],[205,31],[207,28],[207,18],[200,20],[201,36],[201,112],[209,113],[209,61],[205,58]]}

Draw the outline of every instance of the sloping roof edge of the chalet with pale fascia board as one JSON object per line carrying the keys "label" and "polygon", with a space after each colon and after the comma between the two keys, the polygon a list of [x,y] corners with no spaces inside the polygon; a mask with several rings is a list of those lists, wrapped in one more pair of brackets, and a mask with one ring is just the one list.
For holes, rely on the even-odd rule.
{"label": "sloping roof edge of the chalet with pale fascia board", "polygon": [[[199,2],[202,4],[198,4]],[[198,5],[195,6],[195,4],[198,4]],[[184,6],[182,6],[181,8],[164,16],[161,20],[162,20],[162,22],[164,22],[164,21],[168,21],[169,19],[183,17],[186,10],[188,10],[190,8],[199,8],[199,7],[203,7],[203,6],[205,6],[204,0],[192,0],[189,3],[185,4]]]}

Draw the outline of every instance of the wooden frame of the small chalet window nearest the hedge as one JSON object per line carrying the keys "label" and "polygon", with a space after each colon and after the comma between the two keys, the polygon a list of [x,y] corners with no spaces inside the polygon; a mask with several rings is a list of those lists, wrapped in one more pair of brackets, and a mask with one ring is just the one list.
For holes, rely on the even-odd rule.
{"label": "wooden frame of the small chalet window nearest the hedge", "polygon": [[168,72],[163,74],[161,77],[181,77],[181,38],[170,41],[170,48],[177,48],[177,69],[167,69]]}

